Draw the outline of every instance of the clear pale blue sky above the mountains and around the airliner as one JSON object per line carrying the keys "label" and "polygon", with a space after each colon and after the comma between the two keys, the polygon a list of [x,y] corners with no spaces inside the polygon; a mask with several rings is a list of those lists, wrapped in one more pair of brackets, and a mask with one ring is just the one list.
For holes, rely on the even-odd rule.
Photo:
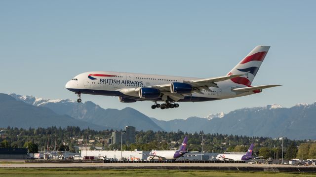
{"label": "clear pale blue sky above the mountains and around the airliner", "polygon": [[271,45],[253,85],[283,86],[261,94],[168,110],[82,99],[162,120],[313,103],[315,7],[315,0],[1,0],[0,93],[75,100],[65,83],[85,71],[221,76],[256,45]]}

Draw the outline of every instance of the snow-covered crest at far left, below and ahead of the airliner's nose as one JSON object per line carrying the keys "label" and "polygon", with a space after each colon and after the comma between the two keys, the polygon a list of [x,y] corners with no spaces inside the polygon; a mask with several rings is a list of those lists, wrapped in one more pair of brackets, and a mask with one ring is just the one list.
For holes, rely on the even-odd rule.
{"label": "snow-covered crest at far left, below and ahead of the airliner's nose", "polygon": [[34,96],[23,96],[23,95],[17,95],[15,93],[11,93],[9,94],[10,96],[12,96],[13,98],[15,98],[16,100],[20,100],[22,102],[25,102],[27,104],[33,105],[33,106],[43,106],[47,103],[75,103],[74,100],[70,100],[70,99],[56,99],[56,100],[50,100],[50,99],[43,99],[43,98],[37,98]]}

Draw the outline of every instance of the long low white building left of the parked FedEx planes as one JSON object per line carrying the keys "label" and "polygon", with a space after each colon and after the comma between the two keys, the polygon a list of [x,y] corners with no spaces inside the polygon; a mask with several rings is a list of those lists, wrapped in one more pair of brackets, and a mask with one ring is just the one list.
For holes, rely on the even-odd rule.
{"label": "long low white building left of the parked FedEx planes", "polygon": [[[120,151],[120,150],[81,150],[81,157],[84,156],[93,156],[96,158],[101,158],[106,156],[106,158],[117,158],[120,159],[126,158],[126,159],[135,159],[135,160],[145,160],[147,159],[149,151]],[[121,156],[122,155],[122,156]]]}

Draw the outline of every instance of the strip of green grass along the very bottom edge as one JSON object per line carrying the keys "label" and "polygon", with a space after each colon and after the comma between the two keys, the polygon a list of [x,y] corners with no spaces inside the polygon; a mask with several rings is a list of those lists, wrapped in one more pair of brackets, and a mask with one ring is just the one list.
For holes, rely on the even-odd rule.
{"label": "strip of green grass along the very bottom edge", "polygon": [[0,177],[316,177],[316,174],[218,172],[197,170],[102,170],[64,168],[0,168]]}

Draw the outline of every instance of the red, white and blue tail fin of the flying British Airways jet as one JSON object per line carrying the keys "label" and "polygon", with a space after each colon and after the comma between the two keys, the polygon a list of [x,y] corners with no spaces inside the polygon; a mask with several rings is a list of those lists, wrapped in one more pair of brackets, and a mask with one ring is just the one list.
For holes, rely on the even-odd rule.
{"label": "red, white and blue tail fin of the flying British Airways jet", "polygon": [[237,84],[250,86],[255,78],[263,60],[265,59],[270,46],[256,46],[245,58],[236,65],[227,75],[231,74],[245,74],[242,77],[235,77],[231,79]]}

